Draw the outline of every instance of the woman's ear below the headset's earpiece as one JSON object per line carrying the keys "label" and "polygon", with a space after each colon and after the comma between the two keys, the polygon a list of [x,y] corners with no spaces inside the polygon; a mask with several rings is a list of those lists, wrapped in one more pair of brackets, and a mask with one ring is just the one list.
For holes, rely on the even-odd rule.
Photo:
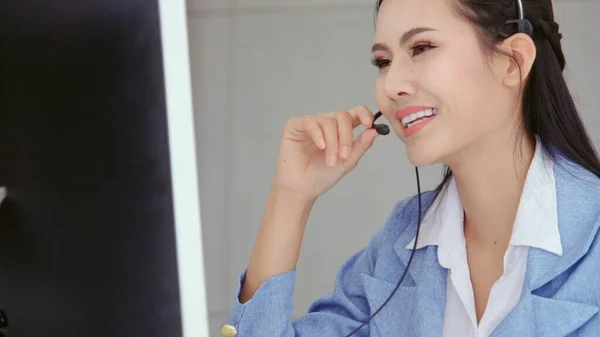
{"label": "woman's ear below the headset's earpiece", "polygon": [[505,86],[519,88],[533,67],[537,52],[535,43],[529,35],[517,33],[506,38],[500,49],[505,55],[499,55],[502,60],[497,63],[497,75]]}

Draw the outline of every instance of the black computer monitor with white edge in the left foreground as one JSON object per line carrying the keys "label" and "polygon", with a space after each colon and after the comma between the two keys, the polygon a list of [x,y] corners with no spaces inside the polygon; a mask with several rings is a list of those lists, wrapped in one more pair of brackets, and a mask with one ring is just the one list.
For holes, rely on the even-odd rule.
{"label": "black computer monitor with white edge in the left foreground", "polygon": [[0,2],[0,334],[208,336],[186,29],[184,0]]}

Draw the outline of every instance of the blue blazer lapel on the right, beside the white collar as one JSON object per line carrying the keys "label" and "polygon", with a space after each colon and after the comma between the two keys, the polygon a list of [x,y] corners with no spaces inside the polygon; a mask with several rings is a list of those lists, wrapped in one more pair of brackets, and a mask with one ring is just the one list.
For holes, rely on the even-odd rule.
{"label": "blue blazer lapel on the right, beside the white collar", "polygon": [[[555,165],[558,226],[563,255],[530,248],[522,298],[491,336],[568,336],[599,308],[590,303],[544,297],[568,280],[571,267],[589,251],[600,226],[599,180],[588,171],[559,160]],[[543,291],[544,287],[556,288]]]}

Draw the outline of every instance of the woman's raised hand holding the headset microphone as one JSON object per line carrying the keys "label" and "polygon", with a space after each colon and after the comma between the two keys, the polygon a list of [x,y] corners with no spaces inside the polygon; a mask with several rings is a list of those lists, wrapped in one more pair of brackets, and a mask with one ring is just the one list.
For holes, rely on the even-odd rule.
{"label": "woman's raised hand holding the headset microphone", "polygon": [[[354,169],[377,131],[364,106],[289,120],[283,129],[274,188],[316,200]],[[354,139],[354,129],[364,130]]]}

